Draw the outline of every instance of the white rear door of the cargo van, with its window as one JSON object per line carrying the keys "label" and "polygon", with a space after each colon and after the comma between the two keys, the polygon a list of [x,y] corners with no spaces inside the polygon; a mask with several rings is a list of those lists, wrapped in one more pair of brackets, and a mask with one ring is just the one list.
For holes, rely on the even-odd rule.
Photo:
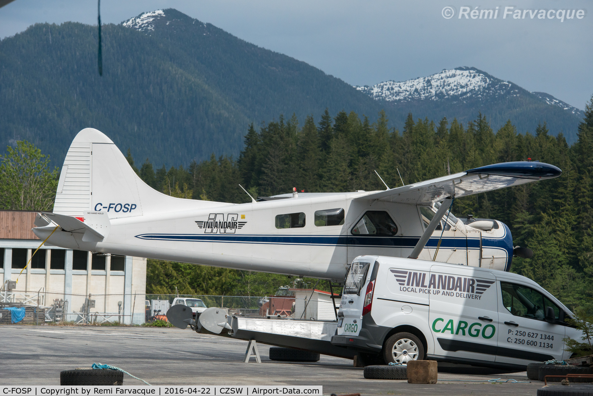
{"label": "white rear door of the cargo van, with its window", "polygon": [[363,258],[361,261],[353,261],[350,266],[340,301],[338,336],[358,336],[361,331],[365,292],[371,280],[373,262]]}

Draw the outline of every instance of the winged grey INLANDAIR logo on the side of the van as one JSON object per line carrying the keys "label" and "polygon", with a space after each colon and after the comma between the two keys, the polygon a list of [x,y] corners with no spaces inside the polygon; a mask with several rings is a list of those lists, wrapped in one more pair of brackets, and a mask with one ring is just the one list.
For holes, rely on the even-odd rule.
{"label": "winged grey INLANDAIR logo on the side of the van", "polygon": [[[426,294],[443,294],[455,297],[480,299],[482,294],[495,283],[495,280],[429,274],[390,269],[400,285],[400,291]],[[428,279],[426,279],[428,277]]]}

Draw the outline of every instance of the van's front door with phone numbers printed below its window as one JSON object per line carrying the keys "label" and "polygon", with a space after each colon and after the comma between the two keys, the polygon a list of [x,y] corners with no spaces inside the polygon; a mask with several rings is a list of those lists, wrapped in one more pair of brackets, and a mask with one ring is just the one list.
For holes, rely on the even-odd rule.
{"label": "van's front door with phone numbers printed below its window", "polygon": [[496,362],[527,365],[533,361],[562,360],[566,327],[558,321],[560,308],[543,293],[525,285],[500,280],[498,353]]}

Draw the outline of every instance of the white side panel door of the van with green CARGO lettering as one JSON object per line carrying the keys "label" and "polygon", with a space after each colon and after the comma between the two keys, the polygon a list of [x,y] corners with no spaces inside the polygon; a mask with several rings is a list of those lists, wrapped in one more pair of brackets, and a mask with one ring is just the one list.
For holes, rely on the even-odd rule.
{"label": "white side panel door of the van with green CARGO lettering", "polygon": [[500,326],[496,278],[464,267],[432,266],[428,286],[434,354],[495,361]]}

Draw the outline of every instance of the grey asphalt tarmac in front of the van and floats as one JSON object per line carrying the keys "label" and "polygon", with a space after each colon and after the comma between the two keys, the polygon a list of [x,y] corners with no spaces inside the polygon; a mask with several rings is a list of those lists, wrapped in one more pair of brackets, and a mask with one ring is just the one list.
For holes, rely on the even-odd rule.
{"label": "grey asphalt tarmac in front of the van and floats", "polygon": [[[254,358],[243,363],[247,341],[178,328],[0,325],[0,342],[0,385],[59,385],[60,371],[102,363],[153,385],[323,385],[325,395],[535,395],[543,386],[467,382],[530,380],[525,372],[466,374],[466,369],[439,372],[438,383],[430,385],[365,379],[352,360],[321,355],[315,363],[276,362],[263,344],[261,364]],[[144,384],[125,376],[124,385]]]}

